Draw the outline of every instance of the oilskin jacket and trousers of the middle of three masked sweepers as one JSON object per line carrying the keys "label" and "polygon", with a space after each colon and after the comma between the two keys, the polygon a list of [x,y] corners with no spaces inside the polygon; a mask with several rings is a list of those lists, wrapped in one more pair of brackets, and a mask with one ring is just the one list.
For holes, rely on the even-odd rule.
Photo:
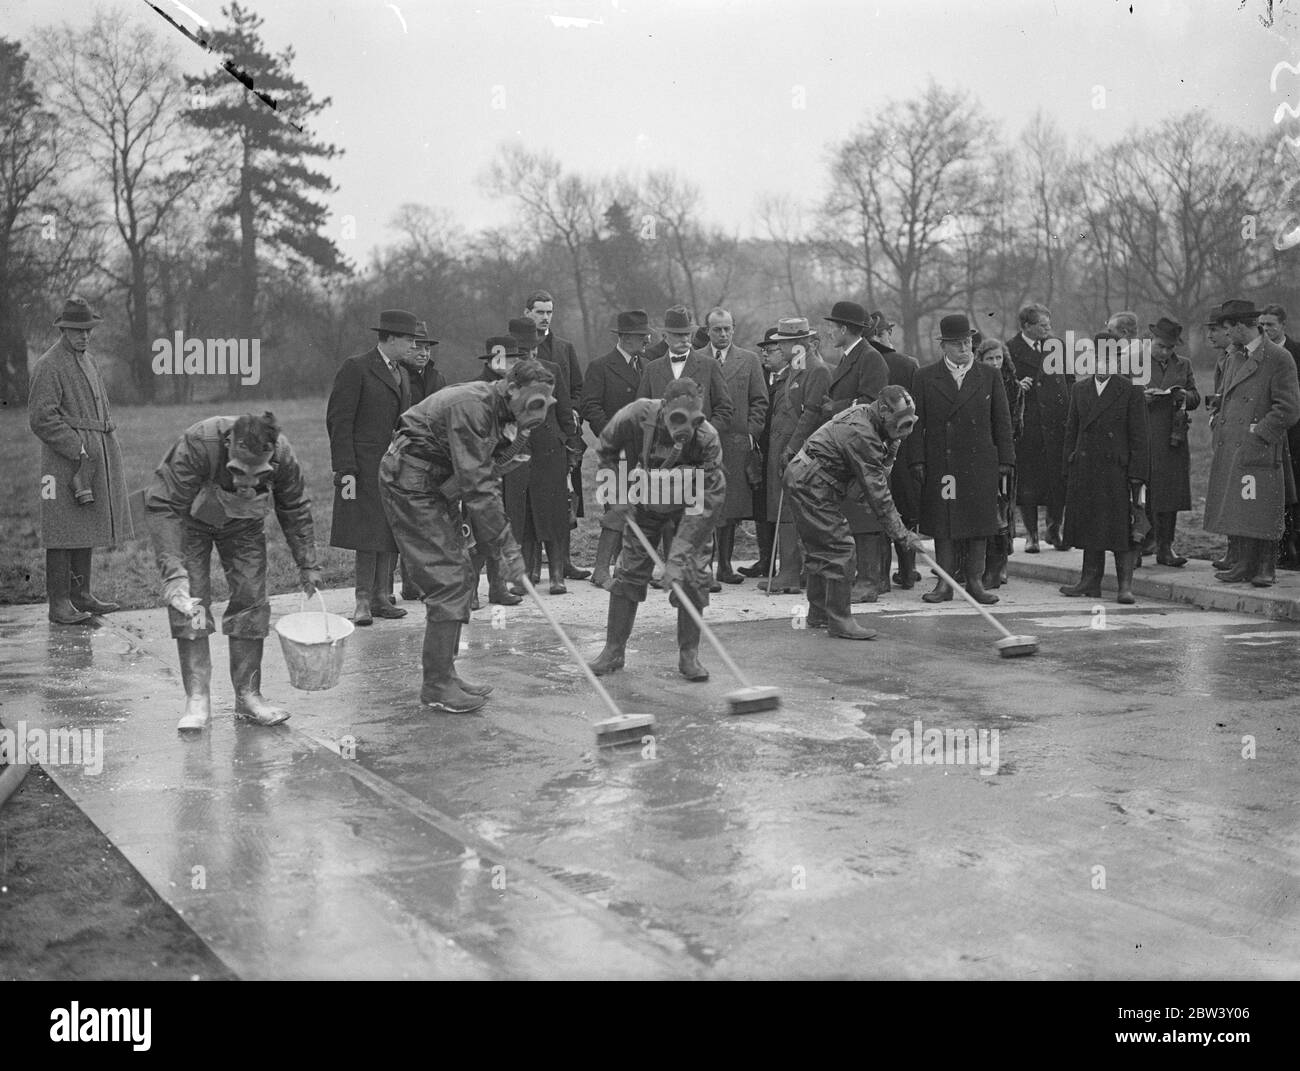
{"label": "oilskin jacket and trousers of the middle of three masked sweepers", "polygon": [[[712,578],[708,558],[714,528],[727,500],[722,441],[706,420],[679,451],[673,447],[662,412],[663,402],[659,399],[638,398],[624,406],[604,425],[597,459],[602,469],[615,472],[623,455],[629,472],[633,467],[641,467],[647,471],[694,469],[698,473],[694,487],[699,497],[694,506],[686,502],[658,506],[638,503],[632,507],[632,517],[651,546],[658,546],[667,525],[675,525],[667,561],[680,569],[686,597],[703,608],[708,606],[708,582]],[[654,561],[632,528],[625,528],[623,552],[610,591],[633,602],[645,602],[653,573]]]}

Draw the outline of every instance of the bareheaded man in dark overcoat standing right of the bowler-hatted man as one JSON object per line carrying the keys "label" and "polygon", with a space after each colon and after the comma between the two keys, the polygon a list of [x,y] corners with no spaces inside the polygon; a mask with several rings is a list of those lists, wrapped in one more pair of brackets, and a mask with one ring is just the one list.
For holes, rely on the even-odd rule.
{"label": "bareheaded man in dark overcoat standing right of the bowler-hatted man", "polygon": [[[1065,347],[1052,338],[1052,313],[1028,304],[1019,312],[1020,330],[1006,341],[1015,376],[1024,395],[1024,434],[1017,451],[1015,500],[1024,521],[1024,552],[1039,552],[1039,507],[1046,507],[1048,542],[1062,550],[1061,510],[1065,478],[1061,451],[1065,448],[1065,419],[1070,409],[1074,378],[1045,368],[1052,347],[1063,359]],[[1063,361],[1062,361],[1063,369]]]}

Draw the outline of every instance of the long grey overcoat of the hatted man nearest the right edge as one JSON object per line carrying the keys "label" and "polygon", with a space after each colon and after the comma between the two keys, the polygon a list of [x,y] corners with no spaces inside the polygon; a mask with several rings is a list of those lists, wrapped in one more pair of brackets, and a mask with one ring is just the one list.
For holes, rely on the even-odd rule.
{"label": "long grey overcoat of the hatted man nearest the right edge", "polygon": [[1249,539],[1282,536],[1283,508],[1296,498],[1287,430],[1297,419],[1300,385],[1286,350],[1261,338],[1253,354],[1228,356],[1210,441],[1206,532]]}

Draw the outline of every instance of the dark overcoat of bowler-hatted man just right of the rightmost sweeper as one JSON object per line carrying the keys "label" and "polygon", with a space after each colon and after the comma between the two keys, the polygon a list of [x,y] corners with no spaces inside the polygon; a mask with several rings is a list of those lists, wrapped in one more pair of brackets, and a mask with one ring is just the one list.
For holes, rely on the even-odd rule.
{"label": "dark overcoat of bowler-hatted man just right of the rightmost sweeper", "polygon": [[1002,377],[974,363],[961,390],[944,361],[916,372],[916,426],[904,441],[909,465],[926,467],[920,530],[936,539],[994,536],[998,465],[1015,464]]}

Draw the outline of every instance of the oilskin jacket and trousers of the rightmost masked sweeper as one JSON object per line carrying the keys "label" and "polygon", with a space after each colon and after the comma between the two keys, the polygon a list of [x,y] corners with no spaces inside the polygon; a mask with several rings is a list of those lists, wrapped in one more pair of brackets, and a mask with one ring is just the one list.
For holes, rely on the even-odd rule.
{"label": "oilskin jacket and trousers of the rightmost masked sweeper", "polygon": [[885,437],[871,408],[853,406],[809,435],[785,467],[785,500],[811,572],[829,581],[853,578],[857,555],[844,511],[850,498],[879,517],[890,539],[906,537],[889,491],[897,456],[898,442]]}

